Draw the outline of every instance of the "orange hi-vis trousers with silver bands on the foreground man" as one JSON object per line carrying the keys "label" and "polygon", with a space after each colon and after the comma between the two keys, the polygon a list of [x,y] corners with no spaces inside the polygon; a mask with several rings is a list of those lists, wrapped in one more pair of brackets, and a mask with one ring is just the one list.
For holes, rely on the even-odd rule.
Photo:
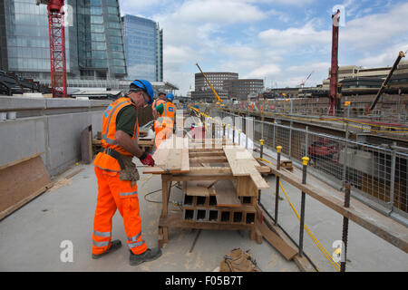
{"label": "orange hi-vis trousers with silver bands on the foreground man", "polygon": [[128,247],[138,255],[147,250],[141,238],[141,216],[139,214],[138,187],[131,181],[119,179],[119,173],[95,167],[98,179],[98,198],[93,219],[92,254],[100,255],[111,247],[112,217],[116,209],[121,213],[128,237]]}

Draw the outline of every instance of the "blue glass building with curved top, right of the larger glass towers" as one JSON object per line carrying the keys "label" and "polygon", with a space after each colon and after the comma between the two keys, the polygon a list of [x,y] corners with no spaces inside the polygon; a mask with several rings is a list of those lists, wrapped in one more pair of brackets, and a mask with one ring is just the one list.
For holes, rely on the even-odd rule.
{"label": "blue glass building with curved top, right of the larger glass towers", "polygon": [[122,17],[128,79],[162,82],[163,34],[159,24],[133,15]]}

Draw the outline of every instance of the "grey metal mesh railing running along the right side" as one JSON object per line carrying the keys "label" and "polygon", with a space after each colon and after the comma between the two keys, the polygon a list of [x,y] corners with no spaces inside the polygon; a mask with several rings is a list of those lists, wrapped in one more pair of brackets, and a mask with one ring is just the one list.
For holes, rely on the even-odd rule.
{"label": "grey metal mesh railing running along the right side", "polygon": [[[212,110],[211,116],[242,118],[219,110]],[[297,164],[302,164],[302,158],[307,156],[313,172],[323,179],[329,178],[340,186],[349,182],[355,198],[374,201],[374,208],[377,205],[388,215],[408,218],[407,153],[316,133],[307,127],[303,130],[253,119],[251,124],[253,140],[264,140],[269,150],[282,146],[283,156]],[[246,133],[246,127],[240,130]]]}

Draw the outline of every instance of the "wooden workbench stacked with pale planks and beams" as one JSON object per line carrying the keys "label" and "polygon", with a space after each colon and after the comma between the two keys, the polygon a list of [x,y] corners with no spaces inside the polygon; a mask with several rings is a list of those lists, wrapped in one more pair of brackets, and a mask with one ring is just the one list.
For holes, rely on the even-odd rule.
{"label": "wooden workbench stacked with pale planks and beams", "polygon": [[[281,231],[270,227],[257,205],[260,189],[269,186],[261,174],[271,172],[244,148],[231,140],[163,140],[153,154],[155,167],[145,174],[160,174],[162,208],[159,220],[159,247],[169,242],[169,227],[248,230],[258,244],[265,238],[287,260],[297,263],[297,249]],[[168,212],[172,182],[183,183],[182,212]],[[308,269],[311,266],[308,265]]]}

